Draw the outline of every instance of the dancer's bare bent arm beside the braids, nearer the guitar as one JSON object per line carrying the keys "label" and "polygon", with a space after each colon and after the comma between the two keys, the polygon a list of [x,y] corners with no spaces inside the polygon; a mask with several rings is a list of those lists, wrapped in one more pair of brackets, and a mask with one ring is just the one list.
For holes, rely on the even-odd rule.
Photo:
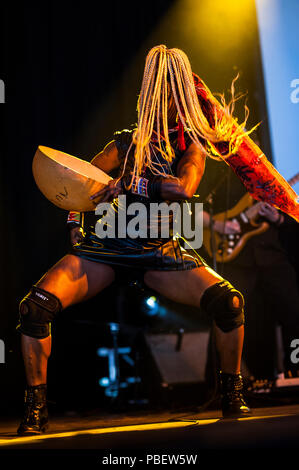
{"label": "dancer's bare bent arm beside the braids, nearer the guitar", "polygon": [[190,199],[202,178],[205,169],[205,154],[192,143],[181,158],[177,168],[177,178],[161,180],[161,198],[165,200]]}

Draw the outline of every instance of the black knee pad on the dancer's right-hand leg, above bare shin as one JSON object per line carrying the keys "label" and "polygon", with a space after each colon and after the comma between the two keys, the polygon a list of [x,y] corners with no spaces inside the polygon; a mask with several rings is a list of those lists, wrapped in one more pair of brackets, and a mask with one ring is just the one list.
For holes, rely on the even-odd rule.
{"label": "black knee pad on the dancer's right-hand leg, above bare shin", "polygon": [[201,307],[213,316],[225,333],[244,325],[244,298],[228,281],[209,287],[202,296]]}

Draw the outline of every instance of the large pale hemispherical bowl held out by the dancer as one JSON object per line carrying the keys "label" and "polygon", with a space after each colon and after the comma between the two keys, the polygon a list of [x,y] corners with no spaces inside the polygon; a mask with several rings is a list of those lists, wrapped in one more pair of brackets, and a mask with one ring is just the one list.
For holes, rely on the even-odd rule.
{"label": "large pale hemispherical bowl held out by the dancer", "polygon": [[90,196],[112,179],[85,160],[41,145],[35,152],[32,172],[38,188],[49,201],[61,209],[78,212],[94,210],[95,203]]}

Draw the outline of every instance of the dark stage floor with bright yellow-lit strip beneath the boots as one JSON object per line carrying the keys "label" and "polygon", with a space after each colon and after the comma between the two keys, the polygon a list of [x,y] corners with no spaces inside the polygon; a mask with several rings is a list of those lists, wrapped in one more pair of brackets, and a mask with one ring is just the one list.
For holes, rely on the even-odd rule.
{"label": "dark stage floor with bright yellow-lit strip beneath the boots", "polygon": [[102,456],[149,449],[152,453],[272,449],[277,454],[284,449],[297,452],[299,405],[256,408],[253,416],[238,420],[224,420],[217,410],[197,415],[168,411],[60,416],[51,418],[47,434],[28,437],[18,437],[17,426],[16,420],[1,424],[0,453],[31,450],[37,455],[56,449],[75,455],[93,450]]}

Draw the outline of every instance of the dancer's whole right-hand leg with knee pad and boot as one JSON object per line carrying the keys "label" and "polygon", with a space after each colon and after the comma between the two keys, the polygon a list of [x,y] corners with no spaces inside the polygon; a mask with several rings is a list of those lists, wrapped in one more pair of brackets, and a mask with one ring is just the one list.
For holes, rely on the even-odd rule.
{"label": "dancer's whole right-hand leg with knee pad and boot", "polygon": [[222,412],[224,417],[248,415],[240,375],[244,338],[243,297],[211,268],[190,271],[148,271],[145,283],[171,300],[203,307],[213,315],[216,345],[221,363]]}

